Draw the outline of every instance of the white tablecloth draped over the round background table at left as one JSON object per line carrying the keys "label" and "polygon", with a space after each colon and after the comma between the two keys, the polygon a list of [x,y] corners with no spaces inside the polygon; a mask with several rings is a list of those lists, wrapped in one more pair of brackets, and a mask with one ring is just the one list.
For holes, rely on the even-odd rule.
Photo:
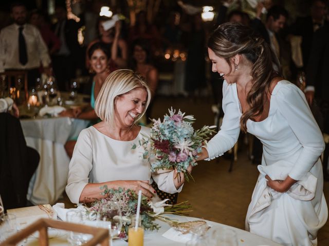
{"label": "white tablecloth draped over the round background table at left", "polygon": [[53,204],[62,195],[69,158],[64,144],[87,127],[89,121],[68,117],[22,119],[26,144],[40,154],[39,167],[30,180],[27,199],[34,204]]}

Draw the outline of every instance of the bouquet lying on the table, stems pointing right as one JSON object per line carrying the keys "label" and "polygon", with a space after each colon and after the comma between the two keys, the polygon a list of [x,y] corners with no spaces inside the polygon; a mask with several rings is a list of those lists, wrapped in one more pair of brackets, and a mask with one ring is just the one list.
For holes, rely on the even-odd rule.
{"label": "bouquet lying on the table, stems pointing right", "polygon": [[[122,231],[119,237],[126,238],[131,224],[130,217],[136,214],[138,195],[134,190],[130,189],[107,189],[107,186],[102,186],[100,189],[104,190],[102,195],[105,198],[98,199],[92,203],[92,207],[87,209],[89,215],[97,214],[100,207],[110,207],[113,203],[118,204],[122,213]],[[164,216],[165,214],[186,215],[185,213],[192,211],[190,210],[191,206],[187,202],[168,205],[165,204],[166,199],[161,201],[158,198],[156,202],[153,200],[148,202],[147,199],[147,197],[142,196],[140,204],[141,223],[145,230],[153,231],[159,229],[159,225],[155,222],[155,219],[169,222],[172,225],[177,223],[177,221]]]}

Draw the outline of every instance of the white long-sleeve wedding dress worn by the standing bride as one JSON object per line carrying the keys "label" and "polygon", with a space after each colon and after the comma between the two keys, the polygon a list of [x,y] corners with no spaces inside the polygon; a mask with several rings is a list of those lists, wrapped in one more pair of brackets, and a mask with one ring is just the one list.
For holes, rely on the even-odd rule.
{"label": "white long-sleeve wedding dress worn by the standing bride", "polygon": [[[222,155],[235,144],[240,133],[242,108],[236,84],[223,85],[221,131],[207,144],[209,159]],[[310,112],[304,93],[287,80],[275,86],[268,117],[247,121],[247,131],[263,144],[260,175],[246,216],[246,230],[284,245],[316,245],[317,231],[327,220],[323,195],[322,165],[324,142]],[[295,183],[279,193],[266,186],[265,175]]]}

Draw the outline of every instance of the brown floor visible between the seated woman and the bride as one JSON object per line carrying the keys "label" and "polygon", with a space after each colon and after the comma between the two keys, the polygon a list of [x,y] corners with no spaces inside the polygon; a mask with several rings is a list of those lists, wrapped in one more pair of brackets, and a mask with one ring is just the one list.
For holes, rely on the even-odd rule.
{"label": "brown floor visible between the seated woman and the bride", "polygon": [[[195,128],[213,124],[209,99],[160,97],[155,100],[153,116],[162,118],[171,106],[193,114],[197,119]],[[229,160],[223,157],[198,163],[192,173],[195,182],[185,183],[178,196],[178,201],[189,200],[192,204],[190,216],[244,229],[248,204],[258,177],[257,166],[248,160],[246,149],[238,153],[230,173]],[[329,197],[329,182],[324,182],[324,195]],[[329,222],[319,231],[318,245],[329,245]]]}

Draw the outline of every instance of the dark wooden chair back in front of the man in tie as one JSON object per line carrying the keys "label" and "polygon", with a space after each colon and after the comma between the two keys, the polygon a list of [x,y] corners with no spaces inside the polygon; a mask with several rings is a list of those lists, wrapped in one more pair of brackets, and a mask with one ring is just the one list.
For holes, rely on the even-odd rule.
{"label": "dark wooden chair back in front of the man in tie", "polygon": [[[24,95],[25,100],[28,100],[29,92],[28,92],[28,84],[27,84],[27,71],[25,70],[8,70],[3,73],[0,73],[0,76],[6,76],[8,90],[10,87],[19,88],[19,79],[21,78],[23,81]],[[17,89],[16,89],[17,90]],[[15,92],[17,99],[21,97],[22,92]]]}

